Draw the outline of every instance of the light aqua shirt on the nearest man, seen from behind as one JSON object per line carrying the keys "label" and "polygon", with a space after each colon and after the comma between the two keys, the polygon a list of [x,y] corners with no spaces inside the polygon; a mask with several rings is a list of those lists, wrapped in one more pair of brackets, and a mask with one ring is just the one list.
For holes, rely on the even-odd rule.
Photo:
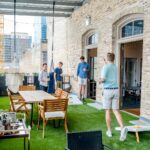
{"label": "light aqua shirt on the nearest man, seen from behind", "polygon": [[103,82],[104,88],[118,88],[116,65],[115,64],[104,65],[101,71],[101,78],[105,80]]}

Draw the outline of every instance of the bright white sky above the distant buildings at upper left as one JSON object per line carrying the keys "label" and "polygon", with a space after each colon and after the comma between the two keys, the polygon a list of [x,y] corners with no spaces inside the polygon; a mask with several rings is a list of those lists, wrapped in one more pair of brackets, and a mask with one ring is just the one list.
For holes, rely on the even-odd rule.
{"label": "bright white sky above the distant buildings at upper left", "polygon": [[[10,34],[14,32],[14,16],[4,16],[4,33]],[[34,37],[34,17],[32,16],[16,16],[16,32],[28,33]]]}

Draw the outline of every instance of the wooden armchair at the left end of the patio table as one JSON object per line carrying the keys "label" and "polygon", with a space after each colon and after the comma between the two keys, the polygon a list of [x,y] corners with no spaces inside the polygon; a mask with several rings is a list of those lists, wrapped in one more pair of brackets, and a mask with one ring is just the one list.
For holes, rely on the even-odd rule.
{"label": "wooden armchair at the left end of the patio table", "polygon": [[23,112],[28,115],[29,111],[31,110],[31,105],[26,104],[21,96],[11,95],[8,89],[7,89],[7,93],[10,99],[10,111],[11,112]]}

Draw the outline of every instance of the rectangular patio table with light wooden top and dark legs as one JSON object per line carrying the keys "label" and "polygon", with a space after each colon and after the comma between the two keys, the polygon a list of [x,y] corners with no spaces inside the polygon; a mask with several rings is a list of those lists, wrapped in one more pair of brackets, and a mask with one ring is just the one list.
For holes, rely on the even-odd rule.
{"label": "rectangular patio table with light wooden top and dark legs", "polygon": [[42,90],[19,91],[19,94],[27,104],[31,104],[31,118],[30,118],[31,127],[32,127],[32,120],[33,120],[33,104],[42,103],[44,99],[51,99],[51,100],[57,99],[53,95],[46,93]]}

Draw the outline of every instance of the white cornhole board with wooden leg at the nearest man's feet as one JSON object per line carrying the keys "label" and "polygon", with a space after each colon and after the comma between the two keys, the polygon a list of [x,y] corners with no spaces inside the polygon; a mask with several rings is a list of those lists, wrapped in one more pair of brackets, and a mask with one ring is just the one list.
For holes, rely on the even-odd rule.
{"label": "white cornhole board with wooden leg at the nearest man's feet", "polygon": [[[139,132],[146,132],[150,131],[150,126],[144,126],[144,125],[134,125],[134,126],[126,126],[128,129],[128,132],[135,132],[136,141],[137,143],[140,142]],[[116,127],[117,131],[120,131],[120,127]]]}

